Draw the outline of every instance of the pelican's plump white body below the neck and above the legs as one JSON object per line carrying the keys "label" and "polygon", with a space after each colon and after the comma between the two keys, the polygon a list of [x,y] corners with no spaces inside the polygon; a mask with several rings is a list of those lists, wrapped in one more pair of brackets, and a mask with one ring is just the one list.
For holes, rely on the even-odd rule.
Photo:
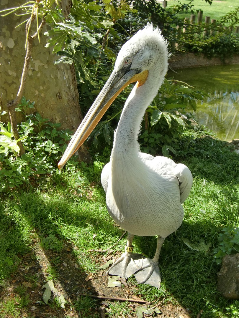
{"label": "pelican's plump white body below the neck and above the legs", "polygon": [[134,235],[166,238],[184,217],[179,176],[186,179],[184,183],[187,178],[190,181],[187,167],[169,158],[113,148],[111,161],[101,174],[110,216]]}

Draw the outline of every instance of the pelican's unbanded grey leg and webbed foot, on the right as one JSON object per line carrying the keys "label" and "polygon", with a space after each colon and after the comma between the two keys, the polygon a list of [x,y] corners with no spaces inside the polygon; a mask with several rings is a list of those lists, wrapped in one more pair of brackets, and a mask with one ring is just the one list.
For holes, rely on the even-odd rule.
{"label": "pelican's unbanded grey leg and webbed foot, on the right", "polygon": [[142,269],[134,274],[139,284],[149,284],[160,288],[161,275],[158,267],[159,254],[163,245],[164,238],[158,235],[157,248],[153,259],[145,258],[143,260]]}

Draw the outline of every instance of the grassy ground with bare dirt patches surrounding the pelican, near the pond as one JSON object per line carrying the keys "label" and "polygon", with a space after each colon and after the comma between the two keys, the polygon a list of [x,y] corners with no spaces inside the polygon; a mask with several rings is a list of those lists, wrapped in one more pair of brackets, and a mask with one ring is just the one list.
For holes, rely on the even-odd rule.
{"label": "grassy ground with bare dirt patches surrounding the pelican, near the pond", "polygon": [[[222,228],[239,226],[239,155],[207,133],[188,134],[194,135],[195,155],[183,162],[194,182],[183,224],[163,244],[160,290],[138,285],[133,277],[127,286],[107,287],[107,269],[101,266],[119,257],[127,235],[119,240],[124,231],[108,215],[99,182],[103,164],[96,159],[92,167],[78,168],[89,183],[79,185],[69,172],[59,171],[45,189],[32,183],[1,196],[0,317],[137,317],[143,306],[81,294],[149,301],[164,317],[196,317],[201,310],[201,318],[237,317],[239,301],[217,291],[214,249],[219,250]],[[152,257],[156,238],[135,237],[134,246]],[[48,305],[43,301],[43,286],[51,280],[65,308],[52,293]]]}

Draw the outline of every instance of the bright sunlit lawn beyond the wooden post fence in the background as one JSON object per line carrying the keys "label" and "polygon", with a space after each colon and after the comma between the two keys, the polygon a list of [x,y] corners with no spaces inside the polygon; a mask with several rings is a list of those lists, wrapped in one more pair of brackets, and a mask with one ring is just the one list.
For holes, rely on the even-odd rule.
{"label": "bright sunlit lawn beyond the wooden post fence in the background", "polygon": [[[180,0],[179,2],[189,3],[189,1],[186,0]],[[168,6],[177,3],[178,2],[176,0],[169,0]],[[194,5],[192,10],[194,11],[194,14],[196,14],[196,16],[197,10],[203,10],[203,21],[205,21],[206,16],[211,17],[211,19],[219,19],[220,17],[224,16],[225,14],[229,13],[239,6],[238,0],[213,0],[213,3],[211,5],[209,3],[206,3],[206,1],[193,0],[192,4]],[[180,14],[181,17],[190,17],[190,15],[191,12]]]}

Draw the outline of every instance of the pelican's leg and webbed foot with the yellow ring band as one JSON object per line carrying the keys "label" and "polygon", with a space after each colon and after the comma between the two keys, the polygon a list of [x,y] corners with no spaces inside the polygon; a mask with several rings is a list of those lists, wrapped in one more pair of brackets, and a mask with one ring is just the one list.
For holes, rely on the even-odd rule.
{"label": "pelican's leg and webbed foot with the yellow ring band", "polygon": [[141,268],[138,265],[136,265],[134,262],[135,255],[139,255],[139,254],[132,253],[133,239],[134,239],[134,235],[128,232],[126,252],[124,252],[122,256],[112,264],[112,266],[107,272],[108,275],[117,275],[122,277],[124,280],[126,280],[128,277],[133,275],[135,272],[137,272]]}

